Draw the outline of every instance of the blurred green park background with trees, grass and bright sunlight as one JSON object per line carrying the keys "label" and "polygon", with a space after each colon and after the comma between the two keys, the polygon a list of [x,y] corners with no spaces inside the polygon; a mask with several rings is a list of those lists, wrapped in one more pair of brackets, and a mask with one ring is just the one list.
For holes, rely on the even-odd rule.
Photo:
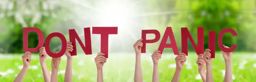
{"label": "blurred green park background with trees, grass and bright sunlight", "polygon": [[[224,28],[234,29],[238,36],[224,34],[223,44],[238,45],[233,52],[233,81],[253,82],[256,74],[256,0],[0,0],[0,82],[12,82],[22,68],[22,27],[37,27],[44,38],[52,32],[64,34],[69,40],[68,29],[75,29],[84,42],[85,27],[118,26],[118,34],[109,37],[109,59],[104,66],[105,82],[133,82],[135,53],[132,45],[141,38],[141,30],[157,29],[161,36],[171,26],[179,50],[180,28],[187,27],[197,42],[197,28],[204,27],[204,48],[208,48],[208,32],[218,33]],[[91,28],[92,30],[92,28]],[[29,33],[29,48],[38,45],[38,35]],[[86,55],[78,48],[73,59],[74,82],[96,82],[93,61],[100,50],[100,35],[91,34],[93,55]],[[149,34],[148,39],[154,38]],[[160,39],[161,40],[161,39]],[[160,40],[147,44],[142,54],[143,79],[151,82],[151,53]],[[216,39],[217,40],[217,39]],[[216,41],[217,42],[217,41]],[[79,45],[79,44],[77,44]],[[59,51],[57,37],[50,42],[51,51]],[[188,62],[183,67],[180,82],[202,82],[198,75],[195,51],[189,42]],[[175,72],[175,55],[172,49],[164,50],[160,60],[160,82],[170,82]],[[64,81],[66,59],[59,68],[59,81]],[[47,60],[50,69],[51,58]],[[225,64],[216,43],[216,58],[212,70],[215,82],[224,79]],[[43,82],[38,53],[24,82]]]}

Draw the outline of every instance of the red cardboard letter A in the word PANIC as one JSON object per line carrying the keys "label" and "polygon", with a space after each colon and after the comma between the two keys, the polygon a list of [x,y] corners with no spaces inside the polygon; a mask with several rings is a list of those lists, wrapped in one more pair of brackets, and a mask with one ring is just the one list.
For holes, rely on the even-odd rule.
{"label": "red cardboard letter A in the word PANIC", "polygon": [[[168,37],[170,38],[170,41],[171,43],[167,44],[167,39]],[[164,48],[172,48],[173,50],[173,53],[175,55],[178,55],[180,54],[179,53],[179,50],[177,48],[177,44],[176,44],[176,41],[175,41],[175,38],[174,38],[174,35],[173,35],[173,32],[172,32],[172,27],[167,27],[166,28],[166,31],[164,32],[163,34],[163,38],[162,38],[162,41],[158,47],[158,50],[161,51],[161,54],[163,53],[163,49]]]}

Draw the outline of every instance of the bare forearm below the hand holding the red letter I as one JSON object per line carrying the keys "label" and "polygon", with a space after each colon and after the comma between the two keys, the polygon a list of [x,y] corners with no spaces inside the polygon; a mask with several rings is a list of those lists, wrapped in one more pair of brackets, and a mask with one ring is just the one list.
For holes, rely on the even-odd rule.
{"label": "bare forearm below the hand holding the red letter I", "polygon": [[212,65],[206,66],[206,82],[214,82],[212,76]]}

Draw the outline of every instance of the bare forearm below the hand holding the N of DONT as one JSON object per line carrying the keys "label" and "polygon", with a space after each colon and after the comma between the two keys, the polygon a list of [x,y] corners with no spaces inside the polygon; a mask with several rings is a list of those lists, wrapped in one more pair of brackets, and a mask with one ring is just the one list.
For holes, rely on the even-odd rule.
{"label": "bare forearm below the hand holding the N of DONT", "polygon": [[67,59],[64,82],[72,82],[72,58]]}

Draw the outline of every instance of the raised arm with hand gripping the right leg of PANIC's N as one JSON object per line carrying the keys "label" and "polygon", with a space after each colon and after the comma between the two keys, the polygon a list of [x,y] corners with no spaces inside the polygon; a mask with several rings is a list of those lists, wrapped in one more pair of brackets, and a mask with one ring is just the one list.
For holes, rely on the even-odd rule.
{"label": "raised arm with hand gripping the right leg of PANIC's N", "polygon": [[198,55],[198,60],[197,60],[197,64],[198,64],[198,72],[201,75],[201,78],[203,80],[203,82],[206,82],[206,71],[205,71],[205,61],[204,61],[204,54],[199,54]]}

